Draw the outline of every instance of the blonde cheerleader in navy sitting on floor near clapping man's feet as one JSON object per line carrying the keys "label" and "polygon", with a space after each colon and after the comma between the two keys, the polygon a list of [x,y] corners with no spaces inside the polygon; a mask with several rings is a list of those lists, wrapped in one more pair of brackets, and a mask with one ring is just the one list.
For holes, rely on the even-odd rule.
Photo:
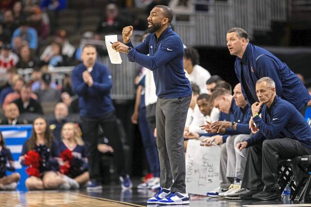
{"label": "blonde cheerleader in navy sitting on floor near clapping man's feet", "polygon": [[60,152],[70,150],[75,159],[81,160],[80,166],[73,168],[68,174],[79,186],[85,185],[89,181],[87,168],[87,150],[81,138],[81,130],[74,123],[66,123],[62,127],[62,141],[59,143]]}

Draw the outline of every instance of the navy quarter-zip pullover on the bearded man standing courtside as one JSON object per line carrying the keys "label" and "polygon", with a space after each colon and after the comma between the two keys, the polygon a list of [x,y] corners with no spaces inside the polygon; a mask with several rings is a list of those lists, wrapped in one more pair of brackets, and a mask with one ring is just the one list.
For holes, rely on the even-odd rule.
{"label": "navy quarter-zip pullover on the bearded man standing courtside", "polygon": [[130,62],[153,71],[157,97],[191,96],[190,81],[186,78],[183,64],[184,45],[171,26],[159,38],[150,33],[137,47],[131,42],[126,45],[133,48],[127,54]]}

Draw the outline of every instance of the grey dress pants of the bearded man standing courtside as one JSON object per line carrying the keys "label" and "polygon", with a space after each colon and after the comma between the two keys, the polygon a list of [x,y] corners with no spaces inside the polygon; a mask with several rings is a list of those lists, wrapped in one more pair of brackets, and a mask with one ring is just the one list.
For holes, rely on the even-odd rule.
{"label": "grey dress pants of the bearded man standing courtside", "polygon": [[[171,192],[186,192],[184,128],[191,96],[158,98],[156,101],[156,144],[160,160],[160,185]],[[173,182],[174,180],[174,182]]]}

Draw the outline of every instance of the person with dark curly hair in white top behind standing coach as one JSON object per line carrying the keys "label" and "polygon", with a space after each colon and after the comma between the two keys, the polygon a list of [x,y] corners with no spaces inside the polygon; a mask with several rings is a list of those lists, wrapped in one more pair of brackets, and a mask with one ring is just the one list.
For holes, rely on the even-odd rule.
{"label": "person with dark curly hair in white top behind standing coach", "polygon": [[190,82],[197,84],[200,87],[201,93],[207,93],[206,81],[210,78],[209,72],[199,65],[200,56],[195,48],[185,48],[184,68],[186,77]]}

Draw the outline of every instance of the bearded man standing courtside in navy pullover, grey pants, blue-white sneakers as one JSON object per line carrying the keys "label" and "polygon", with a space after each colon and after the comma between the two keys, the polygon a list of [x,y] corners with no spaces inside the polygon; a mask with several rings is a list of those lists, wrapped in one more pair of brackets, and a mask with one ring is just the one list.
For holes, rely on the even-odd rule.
{"label": "bearded man standing courtside in navy pullover, grey pants, blue-white sneakers", "polygon": [[189,204],[183,131],[191,88],[184,72],[183,43],[170,26],[172,19],[171,8],[157,5],[147,19],[150,34],[141,44],[137,47],[132,45],[133,27],[128,26],[122,31],[126,45],[121,42],[112,45],[116,51],[127,54],[129,61],[149,68],[154,74],[158,97],[155,116],[161,187],[154,197],[148,199],[149,204]]}

